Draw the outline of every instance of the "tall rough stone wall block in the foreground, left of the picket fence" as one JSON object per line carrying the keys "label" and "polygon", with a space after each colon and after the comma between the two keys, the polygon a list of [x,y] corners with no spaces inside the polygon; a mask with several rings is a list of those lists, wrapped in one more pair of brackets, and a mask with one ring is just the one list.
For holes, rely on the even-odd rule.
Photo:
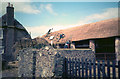
{"label": "tall rough stone wall block in the foreground, left of the picket fence", "polygon": [[25,48],[19,52],[18,74],[23,77],[61,77],[63,59],[50,46]]}

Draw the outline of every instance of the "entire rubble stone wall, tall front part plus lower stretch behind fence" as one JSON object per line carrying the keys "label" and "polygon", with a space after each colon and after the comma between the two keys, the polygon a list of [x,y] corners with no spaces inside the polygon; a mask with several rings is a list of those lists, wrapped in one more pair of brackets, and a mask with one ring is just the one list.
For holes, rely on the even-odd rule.
{"label": "entire rubble stone wall, tall front part plus lower stretch behind fence", "polygon": [[94,59],[95,55],[91,49],[55,50],[51,46],[24,48],[19,51],[18,74],[23,77],[62,77],[65,57]]}

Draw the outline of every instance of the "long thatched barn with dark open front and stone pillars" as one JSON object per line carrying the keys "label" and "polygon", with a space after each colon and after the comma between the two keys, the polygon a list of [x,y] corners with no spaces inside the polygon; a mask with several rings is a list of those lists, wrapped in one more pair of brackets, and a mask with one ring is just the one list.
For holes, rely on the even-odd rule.
{"label": "long thatched barn with dark open front and stone pillars", "polygon": [[[91,24],[85,24],[51,33],[54,35],[64,33],[65,37],[58,43],[71,40],[75,48],[91,48],[98,59],[120,60],[120,19],[112,18]],[[44,36],[43,36],[44,37]],[[47,37],[46,40],[49,40]],[[54,40],[56,44],[56,40]]]}

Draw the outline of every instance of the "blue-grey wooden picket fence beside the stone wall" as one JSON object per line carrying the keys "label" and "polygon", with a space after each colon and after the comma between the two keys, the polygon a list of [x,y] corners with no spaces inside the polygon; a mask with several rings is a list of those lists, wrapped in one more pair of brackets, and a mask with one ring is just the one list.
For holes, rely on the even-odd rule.
{"label": "blue-grey wooden picket fence beside the stone wall", "polygon": [[118,78],[120,79],[120,61],[99,61],[65,58],[63,78]]}

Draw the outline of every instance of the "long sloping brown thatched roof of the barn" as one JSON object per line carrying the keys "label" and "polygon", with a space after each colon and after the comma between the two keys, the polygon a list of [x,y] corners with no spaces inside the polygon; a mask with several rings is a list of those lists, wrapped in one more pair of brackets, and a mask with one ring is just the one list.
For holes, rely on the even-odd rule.
{"label": "long sloping brown thatched roof of the barn", "polygon": [[[120,28],[118,28],[118,22],[120,22],[120,19],[118,20],[118,18],[112,18],[112,19],[103,20],[103,21],[99,21],[91,24],[85,24],[82,26],[77,26],[69,29],[56,31],[51,33],[50,35],[54,35],[58,38],[57,36],[58,33],[64,33],[65,38],[60,40],[60,43],[64,43],[67,40],[78,41],[78,40],[85,40],[85,39],[119,36],[120,34],[118,34],[118,29]],[[42,37],[45,38],[45,35]],[[50,42],[48,38],[49,37],[45,39]]]}

